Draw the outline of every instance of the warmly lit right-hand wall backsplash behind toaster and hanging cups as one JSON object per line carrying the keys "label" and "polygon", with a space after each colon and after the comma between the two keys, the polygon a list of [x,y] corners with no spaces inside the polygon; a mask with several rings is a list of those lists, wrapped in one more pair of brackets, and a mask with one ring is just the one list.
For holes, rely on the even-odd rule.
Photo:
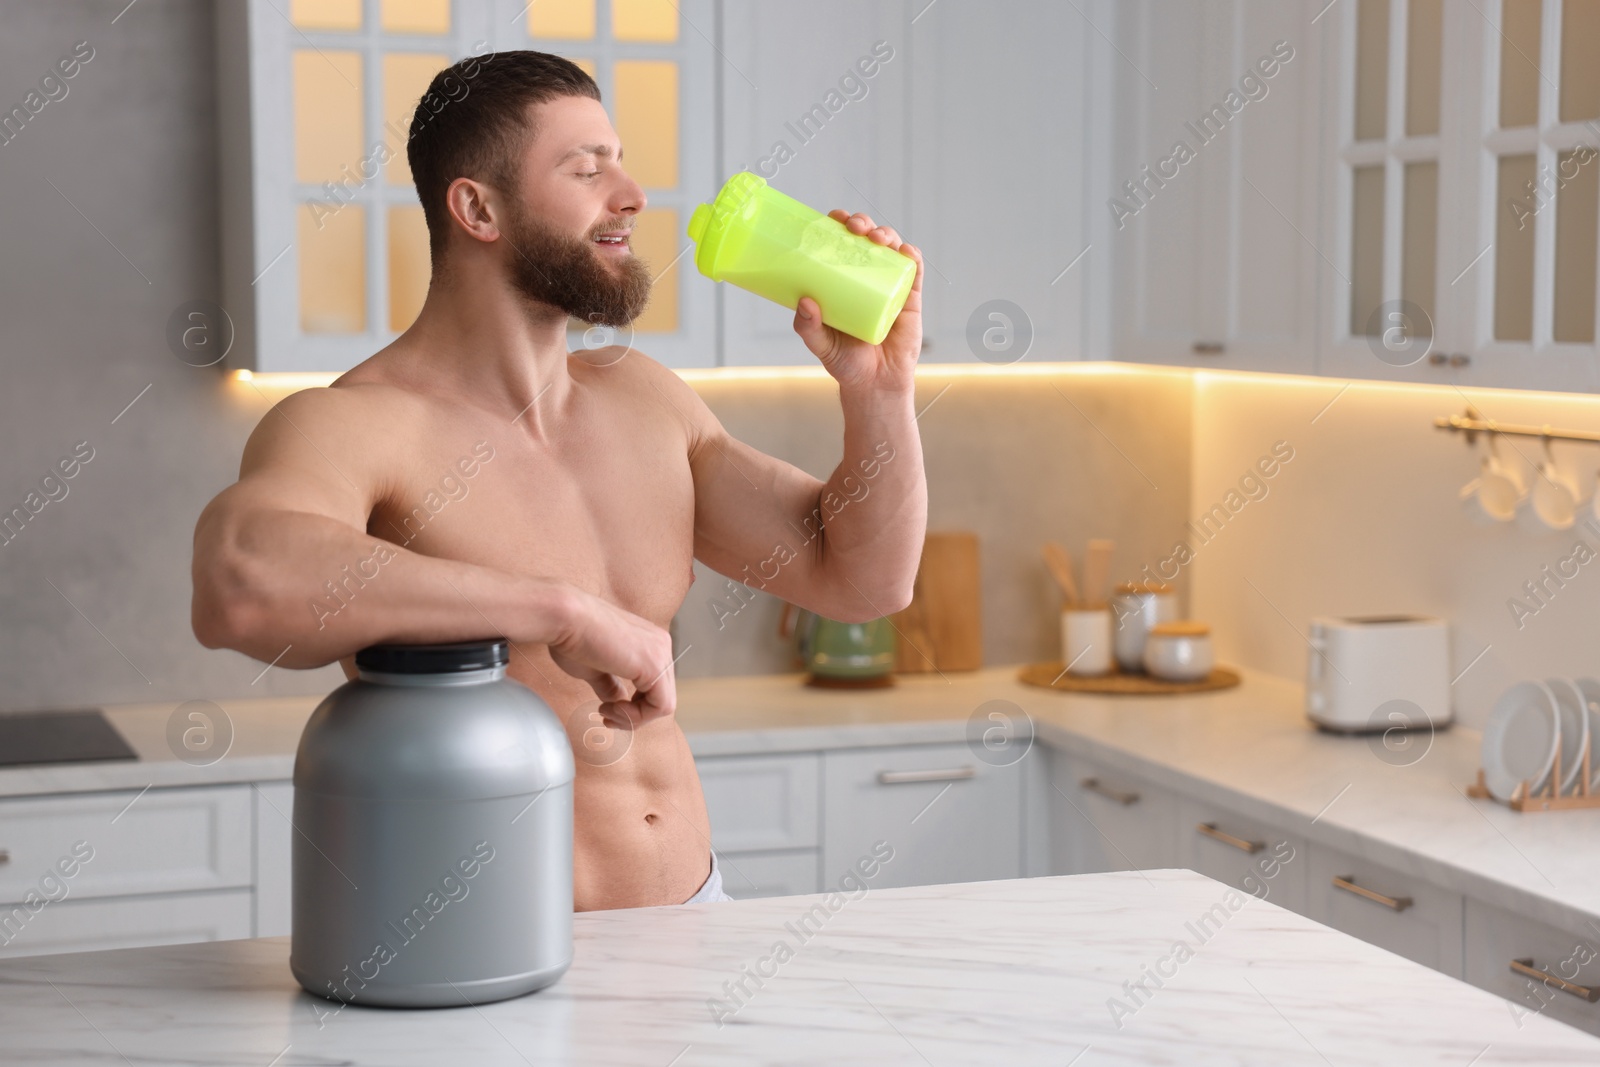
{"label": "warmly lit right-hand wall backsplash behind toaster and hanging cups", "polygon": [[[1600,677],[1600,523],[1584,525],[1600,448],[1552,443],[1584,499],[1573,530],[1472,522],[1459,491],[1486,445],[1434,427],[1469,402],[1501,422],[1600,430],[1600,398],[1574,394],[1197,376],[1182,569],[1226,661],[1299,678],[1314,616],[1427,613],[1450,621],[1466,725],[1522,678]],[[1531,485],[1541,442],[1498,451]]]}

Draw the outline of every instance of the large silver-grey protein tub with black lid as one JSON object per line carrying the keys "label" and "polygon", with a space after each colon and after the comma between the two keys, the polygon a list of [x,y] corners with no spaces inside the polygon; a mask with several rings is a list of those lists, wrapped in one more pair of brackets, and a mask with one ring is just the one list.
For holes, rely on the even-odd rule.
{"label": "large silver-grey protein tub with black lid", "polygon": [[355,1005],[531,993],[573,960],[573,752],[504,640],[376,645],[294,757],[290,968]]}

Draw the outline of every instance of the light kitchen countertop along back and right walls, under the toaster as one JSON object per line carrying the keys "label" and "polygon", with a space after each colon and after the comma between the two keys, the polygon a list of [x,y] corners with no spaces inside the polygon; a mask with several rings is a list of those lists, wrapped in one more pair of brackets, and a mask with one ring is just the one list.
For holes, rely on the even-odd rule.
{"label": "light kitchen countertop along back and right walls, under the toaster", "polygon": [[[1245,672],[1235,689],[1088,696],[1022,685],[1014,667],[904,675],[885,689],[816,689],[798,675],[686,678],[678,720],[698,757],[962,742],[1006,701],[1054,747],[1254,816],[1438,886],[1568,929],[1600,917],[1600,811],[1518,814],[1464,795],[1482,736],[1453,728],[1389,750],[1314,729],[1294,681]],[[318,697],[219,701],[232,725],[210,766],[176,758],[171,704],[106,709],[139,761],[0,769],[0,797],[288,779]]]}

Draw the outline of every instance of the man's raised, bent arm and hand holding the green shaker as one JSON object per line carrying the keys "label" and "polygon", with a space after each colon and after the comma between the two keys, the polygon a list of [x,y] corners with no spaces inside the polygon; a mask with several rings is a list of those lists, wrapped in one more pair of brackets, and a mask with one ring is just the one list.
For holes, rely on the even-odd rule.
{"label": "man's raised, bent arm and hand holding the green shaker", "polygon": [[914,406],[922,253],[864,214],[830,214],[917,264],[910,296],[883,344],[824,325],[811,298],[795,310],[795,333],[838,382],[845,416],[838,467],[821,482],[730,437],[698,395],[685,400],[696,558],[752,589],[851,622],[910,603],[928,523]]}

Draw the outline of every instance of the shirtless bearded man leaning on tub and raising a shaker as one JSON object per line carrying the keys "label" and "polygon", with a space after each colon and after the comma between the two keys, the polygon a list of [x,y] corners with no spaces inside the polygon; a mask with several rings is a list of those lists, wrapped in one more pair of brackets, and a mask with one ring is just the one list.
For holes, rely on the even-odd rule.
{"label": "shirtless bearded man leaning on tub and raising a shaker", "polygon": [[195,528],[195,637],[354,677],[368,645],[504,635],[510,677],[562,717],[578,755],[574,907],[712,896],[666,627],[691,558],[747,582],[760,568],[752,584],[832,619],[909,603],[926,525],[922,256],[832,213],[910,256],[917,282],[882,346],[800,301],[795,333],[845,414],[843,461],[818,482],[730,437],[643,354],[568,352],[568,317],[621,326],[650,294],[626,240],[645,194],[589,75],[498,53],[442,72],[432,99],[450,96],[450,74],[467,94],[419,106],[408,142],[432,251],[422,312],[254,429],[238,483]]}

